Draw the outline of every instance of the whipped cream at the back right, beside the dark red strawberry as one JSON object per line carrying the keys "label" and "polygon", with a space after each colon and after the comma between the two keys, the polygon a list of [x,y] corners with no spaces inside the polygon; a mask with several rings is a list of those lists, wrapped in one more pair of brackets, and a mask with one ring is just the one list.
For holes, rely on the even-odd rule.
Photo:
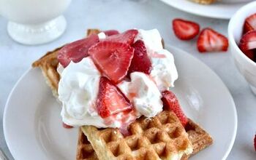
{"label": "whipped cream at the back right, beside the dark red strawberry", "polygon": [[174,64],[173,55],[163,49],[162,37],[157,29],[144,31],[138,30],[135,41],[142,40],[145,44],[148,57],[151,59],[151,78],[162,92],[169,87],[174,87],[174,81],[178,79],[178,72]]}

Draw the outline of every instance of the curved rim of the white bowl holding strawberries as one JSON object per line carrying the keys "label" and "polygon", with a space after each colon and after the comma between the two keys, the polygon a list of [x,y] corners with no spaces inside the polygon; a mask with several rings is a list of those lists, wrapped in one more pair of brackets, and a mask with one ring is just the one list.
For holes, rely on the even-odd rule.
{"label": "curved rim of the white bowl holding strawberries", "polygon": [[[242,52],[241,49],[238,47],[238,44],[236,44],[236,41],[235,41],[235,38],[234,38],[234,35],[233,35],[233,30],[234,30],[233,26],[236,25],[236,19],[237,19],[238,15],[241,15],[241,13],[244,12],[245,10],[247,10],[247,9],[255,9],[255,8],[256,8],[256,1],[252,1],[252,2],[249,2],[248,4],[244,5],[240,9],[238,9],[236,11],[236,13],[230,18],[230,22],[228,23],[227,32],[228,32],[228,38],[229,38],[230,44],[235,47],[238,54],[241,55],[241,57],[244,57],[247,62],[249,62],[252,65],[255,65],[255,67],[256,67],[256,62],[254,62],[249,57],[247,57],[244,54],[244,52]],[[255,9],[255,13],[256,13],[256,9]]]}

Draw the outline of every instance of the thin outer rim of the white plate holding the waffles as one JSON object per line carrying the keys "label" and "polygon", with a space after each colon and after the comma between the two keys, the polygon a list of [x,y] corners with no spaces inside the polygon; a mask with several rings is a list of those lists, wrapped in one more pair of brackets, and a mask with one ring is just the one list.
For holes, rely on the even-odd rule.
{"label": "thin outer rim of the white plate holding the waffles", "polygon": [[[222,79],[220,79],[220,77],[217,75],[217,73],[215,73],[214,70],[212,70],[211,68],[208,67],[208,65],[206,65],[206,63],[204,63],[203,61],[199,60],[197,57],[194,57],[192,55],[190,55],[188,52],[182,50],[182,49],[179,49],[178,47],[174,47],[170,44],[167,44],[166,45],[166,49],[174,49],[174,50],[178,50],[178,52],[182,52],[184,54],[186,54],[186,56],[188,56],[189,58],[192,58],[194,60],[197,61],[197,63],[202,63],[203,65],[205,65],[206,68],[208,68],[208,70],[211,70],[215,76],[217,76],[217,79],[219,79],[219,81],[221,81],[223,87],[225,87],[226,91],[228,92],[228,95],[230,96],[230,100],[231,100],[231,103],[232,103],[232,108],[233,108],[233,113],[234,113],[234,124],[235,124],[235,129],[233,130],[233,136],[230,140],[230,144],[228,145],[228,148],[227,148],[227,151],[225,152],[225,154],[222,156],[222,159],[227,159],[227,156],[230,154],[230,151],[231,149],[233,148],[233,145],[235,143],[235,140],[236,140],[236,134],[237,134],[237,127],[238,127],[238,116],[237,116],[237,111],[236,111],[236,103],[234,102],[233,100],[233,96],[230,94],[230,91],[229,89],[227,88],[227,86],[225,85],[225,83],[222,81]],[[7,143],[7,147],[10,151],[10,153],[12,154],[12,157],[14,159],[18,159],[18,156],[17,154],[15,153],[14,150],[11,150],[11,145],[10,145],[10,137],[9,135],[7,135],[7,110],[8,110],[8,106],[9,106],[9,103],[10,103],[10,99],[16,89],[16,87],[18,87],[18,84],[20,84],[20,81],[32,70],[33,68],[32,67],[29,67],[24,73],[22,76],[20,76],[20,78],[18,79],[18,81],[16,81],[15,85],[12,87],[12,90],[10,92],[10,94],[8,95],[7,97],[7,102],[6,104],[4,105],[4,113],[3,113],[3,131],[4,131],[4,140],[5,142]]]}

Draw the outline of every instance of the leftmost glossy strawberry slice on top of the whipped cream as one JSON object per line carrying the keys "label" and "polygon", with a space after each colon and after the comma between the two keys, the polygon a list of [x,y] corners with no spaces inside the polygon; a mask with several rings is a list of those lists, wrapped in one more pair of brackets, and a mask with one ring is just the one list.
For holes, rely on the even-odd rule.
{"label": "leftmost glossy strawberry slice on top of the whipped cream", "polygon": [[99,41],[97,34],[92,34],[86,39],[80,39],[74,41],[70,44],[65,45],[59,50],[58,60],[59,63],[65,68],[71,60],[74,63],[80,62],[84,57],[88,56],[88,49],[93,44],[96,44]]}

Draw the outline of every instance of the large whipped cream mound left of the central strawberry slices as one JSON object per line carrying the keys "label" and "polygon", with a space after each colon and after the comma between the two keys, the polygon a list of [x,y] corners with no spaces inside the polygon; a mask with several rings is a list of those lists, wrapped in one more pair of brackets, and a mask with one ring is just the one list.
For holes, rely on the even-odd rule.
{"label": "large whipped cream mound left of the central strawberry slices", "polygon": [[[98,115],[97,99],[100,73],[90,57],[79,63],[72,61],[59,70],[59,100],[62,103],[61,117],[71,126],[94,125],[107,127]],[[112,127],[116,127],[113,124]]]}

